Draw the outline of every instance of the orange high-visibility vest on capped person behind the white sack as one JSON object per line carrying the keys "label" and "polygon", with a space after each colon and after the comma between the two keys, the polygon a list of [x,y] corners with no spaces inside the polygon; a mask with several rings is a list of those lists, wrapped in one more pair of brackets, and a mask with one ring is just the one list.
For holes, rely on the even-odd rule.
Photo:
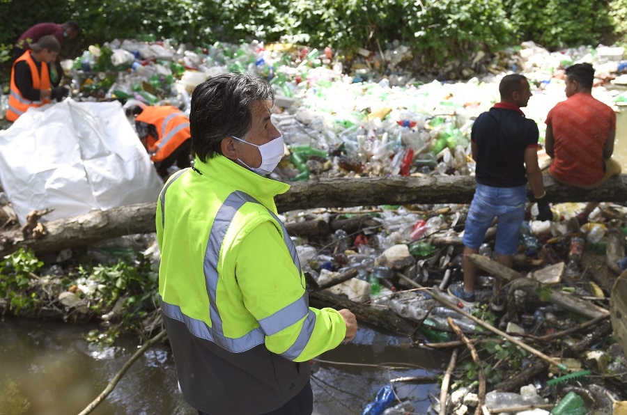
{"label": "orange high-visibility vest on capped person behind the white sack", "polygon": [[17,58],[17,60],[13,63],[13,68],[11,69],[11,92],[9,95],[9,107],[6,110],[6,119],[11,121],[12,123],[17,120],[23,113],[26,112],[30,107],[41,107],[44,104],[49,104],[52,102],[49,98],[40,101],[31,101],[27,100],[22,96],[22,93],[19,89],[17,89],[17,85],[15,85],[15,63],[20,61],[26,61],[31,68],[31,77],[33,77],[33,88],[35,89],[50,89],[50,75],[48,72],[48,64],[45,62],[41,63],[41,73],[37,69],[37,64],[31,56],[29,51],[24,52],[22,56]]}

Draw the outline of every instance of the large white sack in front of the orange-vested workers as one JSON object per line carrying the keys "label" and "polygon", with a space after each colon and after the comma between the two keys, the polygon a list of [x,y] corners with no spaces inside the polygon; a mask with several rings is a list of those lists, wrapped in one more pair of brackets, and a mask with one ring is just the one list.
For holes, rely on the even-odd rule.
{"label": "large white sack in front of the orange-vested workers", "polygon": [[21,224],[154,202],[163,186],[119,102],[70,99],[0,131],[0,182]]}

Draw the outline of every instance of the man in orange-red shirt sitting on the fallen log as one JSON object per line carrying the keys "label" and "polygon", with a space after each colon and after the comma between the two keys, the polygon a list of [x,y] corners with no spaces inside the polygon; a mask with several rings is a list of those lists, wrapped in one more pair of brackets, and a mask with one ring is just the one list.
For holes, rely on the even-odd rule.
{"label": "man in orange-red shirt sitting on the fallen log", "polygon": [[[578,63],[566,68],[566,101],[546,118],[546,153],[552,157],[549,173],[565,185],[594,189],[621,172],[611,158],[616,135],[616,113],[592,97],[594,68]],[[578,214],[580,224],[598,203],[587,203]]]}

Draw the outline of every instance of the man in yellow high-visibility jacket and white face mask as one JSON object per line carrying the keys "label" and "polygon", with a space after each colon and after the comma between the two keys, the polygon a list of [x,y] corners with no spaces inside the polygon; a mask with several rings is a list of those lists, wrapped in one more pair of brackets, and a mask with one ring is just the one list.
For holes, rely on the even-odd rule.
{"label": "man in yellow high-visibility jacket and white face mask", "polygon": [[265,178],[284,155],[272,88],[246,74],[192,93],[194,166],[157,201],[159,294],[185,400],[199,414],[311,414],[309,360],[357,332],[309,307],[304,274]]}

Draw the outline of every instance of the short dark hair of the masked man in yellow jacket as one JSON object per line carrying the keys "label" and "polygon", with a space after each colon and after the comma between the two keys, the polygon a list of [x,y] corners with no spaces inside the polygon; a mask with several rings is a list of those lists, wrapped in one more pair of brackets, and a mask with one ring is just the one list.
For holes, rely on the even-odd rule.
{"label": "short dark hair of the masked man in yellow jacket", "polygon": [[220,143],[225,137],[243,139],[251,128],[251,104],[266,100],[274,104],[272,86],[245,73],[216,75],[196,86],[189,113],[192,153],[206,162],[222,154]]}

